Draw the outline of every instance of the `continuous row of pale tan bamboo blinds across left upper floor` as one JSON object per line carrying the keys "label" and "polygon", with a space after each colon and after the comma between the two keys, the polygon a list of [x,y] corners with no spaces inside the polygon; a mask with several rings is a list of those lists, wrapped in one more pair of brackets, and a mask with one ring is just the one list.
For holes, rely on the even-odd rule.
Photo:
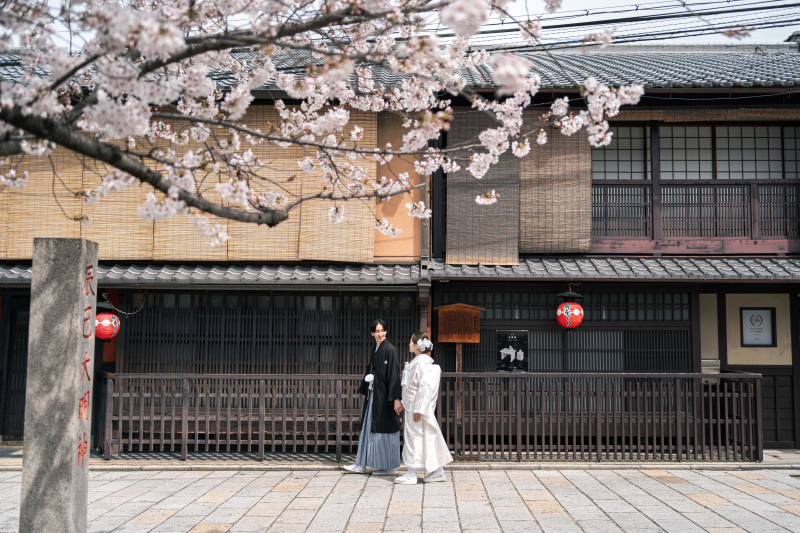
{"label": "continuous row of pale tan bamboo blinds across left upper floor", "polygon": [[[271,106],[253,106],[242,122],[262,131],[278,120]],[[364,128],[365,146],[377,142],[377,120],[374,113],[351,112],[351,125]],[[217,135],[227,132],[215,131]],[[249,145],[243,140],[244,149],[251,149],[266,168],[261,177],[274,184],[273,190],[281,191],[293,200],[301,192],[317,192],[307,186],[302,190],[303,179],[287,181],[301,176],[297,165],[305,155],[303,150],[285,150],[274,144]],[[139,149],[168,148],[163,140],[155,144],[139,139]],[[172,149],[180,155],[192,148],[192,143]],[[34,237],[84,237],[100,244],[103,260],[130,261],[298,261],[301,259],[321,261],[372,262],[375,239],[374,201],[347,202],[345,223],[332,226],[328,222],[327,202],[299,207],[292,211],[289,219],[275,228],[256,227],[251,224],[222,222],[228,228],[231,240],[222,246],[210,248],[200,236],[192,222],[183,216],[168,222],[142,222],[139,206],[151,189],[147,186],[131,187],[121,193],[106,196],[99,204],[82,206],[74,192],[96,189],[107,173],[103,165],[87,161],[85,167],[75,156],[56,150],[52,156],[61,180],[56,180],[58,201],[70,217],[88,215],[88,226],[70,221],[61,215],[53,199],[53,172],[48,158],[26,157],[22,169],[31,173],[28,186],[23,191],[0,192],[0,223],[8,228],[0,235],[0,259],[30,259]],[[19,159],[12,159],[15,164]],[[376,164],[368,162],[370,175],[375,175]],[[210,180],[203,186],[207,198],[215,198],[214,185]],[[69,192],[67,189],[69,189]],[[160,197],[160,194],[157,196]],[[304,214],[305,210],[305,214]],[[397,216],[405,216],[405,212]],[[214,217],[209,217],[214,221]],[[301,240],[301,225],[304,238]],[[302,247],[302,253],[301,253]]]}

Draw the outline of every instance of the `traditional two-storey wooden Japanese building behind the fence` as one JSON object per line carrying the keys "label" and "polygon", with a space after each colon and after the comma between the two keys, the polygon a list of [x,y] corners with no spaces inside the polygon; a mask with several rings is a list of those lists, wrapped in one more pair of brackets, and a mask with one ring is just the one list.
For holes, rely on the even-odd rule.
{"label": "traditional two-storey wooden Japanese building behind the fence", "polygon": [[[408,219],[404,200],[377,205],[378,218],[403,227],[399,239],[377,234],[369,209],[342,229],[311,203],[272,230],[228,223],[233,239],[209,249],[188,223],[140,222],[140,188],[87,207],[57,187],[68,213],[93,219],[88,226],[54,215],[52,179],[0,192],[0,434],[23,430],[32,238],[80,236],[100,243],[101,293],[134,313],[123,315],[115,341],[98,345],[106,371],[359,374],[369,319],[387,319],[400,347],[420,325],[435,341],[433,308],[464,303],[485,309],[481,342],[464,346],[465,372],[497,371],[502,331],[527,332],[520,368],[532,373],[757,372],[764,445],[795,447],[798,43],[620,45],[528,57],[542,91],[524,129],[544,128],[549,142],[522,159],[503,156],[480,181],[465,171],[428,177],[429,225]],[[16,75],[9,65],[0,76]],[[540,122],[555,98],[581,107],[564,71],[645,85],[641,103],[612,120],[609,146],[592,148],[583,132],[564,137]],[[494,94],[490,69],[463,74]],[[248,124],[274,113],[270,101],[261,104]],[[442,146],[491,125],[461,104]],[[378,143],[401,131],[390,116],[357,121]],[[264,150],[283,162],[276,172],[296,168],[291,151]],[[90,167],[55,155],[60,181],[81,189],[96,180]],[[408,162],[393,164],[423,179]],[[490,189],[498,203],[476,204]],[[555,310],[570,288],[583,295],[585,318],[565,330]],[[434,353],[445,371],[455,369],[453,345]]]}

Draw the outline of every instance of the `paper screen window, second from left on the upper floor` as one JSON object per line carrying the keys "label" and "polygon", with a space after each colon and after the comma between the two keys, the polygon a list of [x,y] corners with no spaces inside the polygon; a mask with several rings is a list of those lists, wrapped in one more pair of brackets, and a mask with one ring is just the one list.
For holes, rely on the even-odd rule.
{"label": "paper screen window, second from left on the upper floor", "polygon": [[710,126],[659,128],[662,180],[714,179]]}

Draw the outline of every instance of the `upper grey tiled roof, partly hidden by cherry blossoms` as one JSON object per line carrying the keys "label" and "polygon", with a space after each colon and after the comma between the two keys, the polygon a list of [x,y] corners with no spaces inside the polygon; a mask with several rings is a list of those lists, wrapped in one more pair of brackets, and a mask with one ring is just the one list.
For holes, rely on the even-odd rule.
{"label": "upper grey tiled roof, partly hidden by cherry blossoms", "polygon": [[[651,89],[800,86],[800,53],[795,43],[708,47],[707,51],[703,47],[685,45],[612,46],[610,49],[613,50],[588,54],[561,51],[554,56],[542,53],[521,55],[533,62],[533,70],[541,76],[545,89],[573,87],[567,74],[580,81],[594,76],[610,85],[635,82]],[[248,64],[254,64],[258,59],[256,53],[247,51],[234,52],[233,55]],[[305,66],[311,61],[307,51],[285,52],[274,59],[279,70],[298,76],[304,75]],[[24,72],[19,56],[0,56],[0,78],[18,81]],[[462,75],[474,87],[494,86],[492,69],[488,65],[464,69]],[[396,86],[402,81],[402,76],[378,67],[373,68],[373,76],[376,84],[383,86]],[[221,89],[236,83],[235,78],[225,71],[212,71],[211,77]],[[260,90],[278,89],[269,83]]]}

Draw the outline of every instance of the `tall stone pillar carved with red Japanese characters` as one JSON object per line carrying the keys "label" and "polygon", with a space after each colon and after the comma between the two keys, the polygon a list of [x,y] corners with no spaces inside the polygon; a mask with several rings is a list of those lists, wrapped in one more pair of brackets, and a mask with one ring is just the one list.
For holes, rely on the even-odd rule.
{"label": "tall stone pillar carved with red Japanese characters", "polygon": [[97,243],[34,239],[20,531],[85,532]]}

